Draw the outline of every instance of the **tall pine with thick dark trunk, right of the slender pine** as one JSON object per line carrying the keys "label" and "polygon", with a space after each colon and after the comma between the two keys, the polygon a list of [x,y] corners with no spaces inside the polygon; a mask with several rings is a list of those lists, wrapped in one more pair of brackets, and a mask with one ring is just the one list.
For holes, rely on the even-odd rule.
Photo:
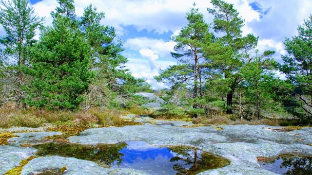
{"label": "tall pine with thick dark trunk, right of the slender pine", "polygon": [[208,8],[208,12],[214,18],[214,30],[224,34],[217,41],[205,48],[209,61],[220,76],[215,76],[216,84],[226,90],[227,113],[232,113],[233,97],[235,89],[242,82],[240,69],[252,60],[250,51],[257,45],[258,37],[254,35],[242,36],[244,19],[239,16],[233,4],[223,0],[212,0],[214,8]]}

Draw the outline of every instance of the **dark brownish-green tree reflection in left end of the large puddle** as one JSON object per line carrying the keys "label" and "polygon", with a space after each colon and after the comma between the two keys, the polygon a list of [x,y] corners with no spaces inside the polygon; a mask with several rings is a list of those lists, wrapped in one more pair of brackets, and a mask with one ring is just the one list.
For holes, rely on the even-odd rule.
{"label": "dark brownish-green tree reflection in left end of the large puddle", "polygon": [[37,155],[58,155],[63,157],[75,157],[84,160],[90,160],[99,164],[111,165],[114,162],[119,166],[122,162],[122,156],[119,151],[127,146],[127,143],[117,144],[98,144],[98,145],[81,145],[81,144],[58,144],[45,143],[36,145]]}

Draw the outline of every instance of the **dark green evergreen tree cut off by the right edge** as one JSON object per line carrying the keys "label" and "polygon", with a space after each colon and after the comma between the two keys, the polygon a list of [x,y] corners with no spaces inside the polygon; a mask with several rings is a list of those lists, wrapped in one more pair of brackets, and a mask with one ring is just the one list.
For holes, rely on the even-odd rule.
{"label": "dark green evergreen tree cut off by the right edge", "polygon": [[284,41],[288,55],[282,55],[280,70],[292,86],[292,97],[312,117],[312,15],[299,25],[298,35]]}

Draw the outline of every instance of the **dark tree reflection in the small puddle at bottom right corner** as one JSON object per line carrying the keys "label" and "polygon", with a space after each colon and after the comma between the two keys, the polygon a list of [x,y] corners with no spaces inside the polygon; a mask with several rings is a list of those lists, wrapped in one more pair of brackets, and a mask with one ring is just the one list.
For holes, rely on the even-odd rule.
{"label": "dark tree reflection in the small puddle at bottom right corner", "polygon": [[284,175],[312,175],[312,157],[280,156],[280,168],[289,168]]}

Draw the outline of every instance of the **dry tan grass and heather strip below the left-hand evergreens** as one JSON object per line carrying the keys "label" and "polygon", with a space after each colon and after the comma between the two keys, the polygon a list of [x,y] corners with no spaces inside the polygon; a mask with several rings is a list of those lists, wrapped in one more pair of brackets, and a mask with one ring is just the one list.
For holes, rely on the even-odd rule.
{"label": "dry tan grass and heather strip below the left-hand evergreens", "polygon": [[[80,124],[80,125],[125,125],[119,116],[121,111],[117,109],[91,108],[85,111],[50,111],[38,110],[34,108],[15,110],[0,110],[0,128],[10,128],[12,126],[39,127],[44,123]],[[126,123],[131,124],[131,123]]]}

